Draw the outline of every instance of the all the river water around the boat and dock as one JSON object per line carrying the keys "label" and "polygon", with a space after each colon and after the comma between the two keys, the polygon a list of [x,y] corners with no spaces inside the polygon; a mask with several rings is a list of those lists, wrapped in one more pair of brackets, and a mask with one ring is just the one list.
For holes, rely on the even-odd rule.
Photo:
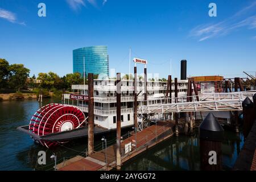
{"label": "all the river water around the boat and dock", "polygon": [[[44,100],[48,103],[61,103],[60,100]],[[32,139],[16,127],[28,125],[32,115],[39,108],[36,100],[0,102],[0,170],[52,170],[54,161],[50,156],[55,153],[57,163],[72,156],[84,155],[87,139],[74,140],[54,149],[35,144]],[[95,148],[102,148],[101,137],[95,138]],[[104,136],[108,145],[115,142],[115,133]],[[222,143],[222,162],[225,170],[230,170],[236,162],[243,146],[243,135],[225,131]],[[38,164],[38,152],[46,151],[46,165]],[[162,142],[123,164],[122,170],[199,170],[198,135],[180,135]]]}

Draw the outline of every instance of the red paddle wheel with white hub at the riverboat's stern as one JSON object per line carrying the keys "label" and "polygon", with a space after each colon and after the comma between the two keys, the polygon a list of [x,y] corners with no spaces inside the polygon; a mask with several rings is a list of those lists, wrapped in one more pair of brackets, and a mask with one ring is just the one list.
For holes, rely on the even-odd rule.
{"label": "red paddle wheel with white hub at the riverboat's stern", "polygon": [[[29,131],[43,136],[81,127],[85,121],[84,113],[75,106],[63,104],[48,104],[41,107],[33,115]],[[57,142],[39,141],[43,146],[56,146]]]}

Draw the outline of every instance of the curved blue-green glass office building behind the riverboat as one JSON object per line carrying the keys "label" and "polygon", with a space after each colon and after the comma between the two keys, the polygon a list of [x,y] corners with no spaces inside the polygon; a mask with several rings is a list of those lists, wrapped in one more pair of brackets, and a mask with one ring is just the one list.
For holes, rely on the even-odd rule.
{"label": "curved blue-green glass office building behind the riverboat", "polygon": [[108,47],[90,46],[73,50],[73,73],[84,75],[85,59],[85,76],[88,73],[94,75],[109,76],[109,56]]}

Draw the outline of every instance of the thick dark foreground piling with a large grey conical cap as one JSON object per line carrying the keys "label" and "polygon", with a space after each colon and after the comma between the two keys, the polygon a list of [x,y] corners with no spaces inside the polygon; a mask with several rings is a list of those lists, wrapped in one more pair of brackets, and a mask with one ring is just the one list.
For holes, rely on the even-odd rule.
{"label": "thick dark foreground piling with a large grey conical cap", "polygon": [[221,142],[224,129],[212,113],[205,117],[199,126],[200,168],[203,171],[220,171],[222,169]]}

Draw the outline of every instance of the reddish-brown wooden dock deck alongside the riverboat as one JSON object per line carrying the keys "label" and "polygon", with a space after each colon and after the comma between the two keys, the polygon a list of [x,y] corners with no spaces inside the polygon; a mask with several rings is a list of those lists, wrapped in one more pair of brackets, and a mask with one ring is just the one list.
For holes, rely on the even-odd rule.
{"label": "reddish-brown wooden dock deck alongside the riverboat", "polygon": [[[132,133],[129,137],[121,140],[121,160],[122,163],[155,146],[159,142],[170,138],[174,133],[172,127],[174,122],[157,122],[136,135]],[[135,138],[137,139],[135,141]],[[65,162],[57,164],[60,171],[109,171],[115,167],[116,145],[113,144],[104,150],[96,151],[86,158],[76,156]]]}

